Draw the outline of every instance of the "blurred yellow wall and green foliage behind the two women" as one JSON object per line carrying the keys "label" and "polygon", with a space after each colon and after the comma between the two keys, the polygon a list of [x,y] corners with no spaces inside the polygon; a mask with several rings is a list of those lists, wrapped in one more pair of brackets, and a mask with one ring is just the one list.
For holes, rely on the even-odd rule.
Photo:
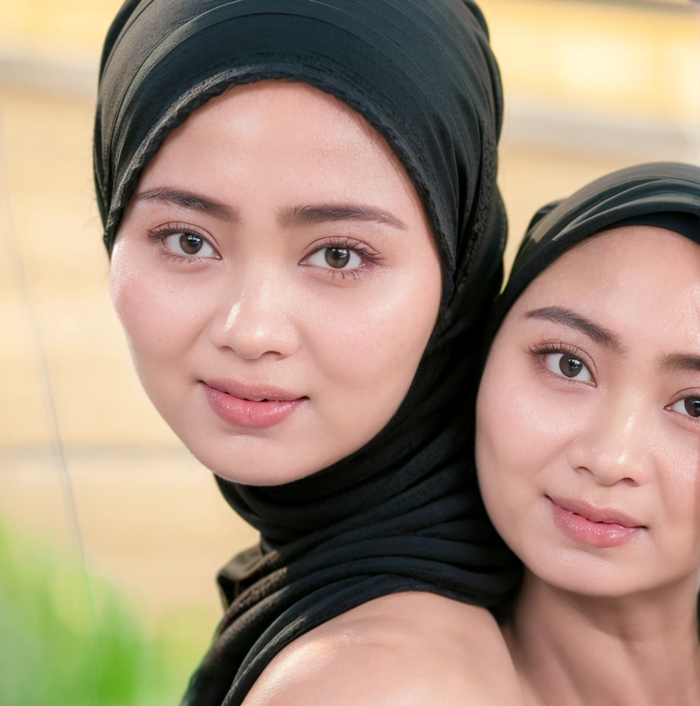
{"label": "blurred yellow wall and green foliage behind the two women", "polygon": [[[480,4],[505,83],[507,261],[543,203],[700,163],[689,0]],[[120,5],[0,0],[3,706],[176,702],[221,616],[215,573],[257,539],[150,406],[111,309],[90,140]]]}

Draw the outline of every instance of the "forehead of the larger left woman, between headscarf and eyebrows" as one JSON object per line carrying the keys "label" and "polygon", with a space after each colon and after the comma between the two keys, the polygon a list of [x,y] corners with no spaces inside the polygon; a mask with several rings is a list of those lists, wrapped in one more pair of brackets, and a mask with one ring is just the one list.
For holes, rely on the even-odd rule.
{"label": "forehead of the larger left woman, between headscarf and eyebrows", "polygon": [[266,80],[234,86],[170,133],[149,167],[184,180],[246,178],[275,165],[270,186],[322,186],[371,193],[410,185],[393,150],[366,119],[306,83]]}

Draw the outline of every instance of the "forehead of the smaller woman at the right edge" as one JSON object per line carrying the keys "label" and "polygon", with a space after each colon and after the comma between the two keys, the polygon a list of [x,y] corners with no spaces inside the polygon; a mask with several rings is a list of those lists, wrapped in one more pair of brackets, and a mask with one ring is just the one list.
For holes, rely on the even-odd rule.
{"label": "forehead of the smaller woman at the right edge", "polygon": [[[650,226],[603,232],[574,246],[521,294],[515,318],[562,306],[658,347],[700,342],[700,246]],[[510,318],[510,317],[509,317]],[[664,345],[665,344],[665,345]]]}

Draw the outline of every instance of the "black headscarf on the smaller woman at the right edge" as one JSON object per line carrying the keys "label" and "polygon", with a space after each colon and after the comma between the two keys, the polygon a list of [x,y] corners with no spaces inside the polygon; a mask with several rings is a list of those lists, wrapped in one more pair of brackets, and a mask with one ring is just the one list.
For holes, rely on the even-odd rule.
{"label": "black headscarf on the smaller woman at the right edge", "polygon": [[562,253],[605,230],[650,225],[700,244],[700,168],[660,162],[620,169],[533,217],[489,324],[497,328],[524,289]]}

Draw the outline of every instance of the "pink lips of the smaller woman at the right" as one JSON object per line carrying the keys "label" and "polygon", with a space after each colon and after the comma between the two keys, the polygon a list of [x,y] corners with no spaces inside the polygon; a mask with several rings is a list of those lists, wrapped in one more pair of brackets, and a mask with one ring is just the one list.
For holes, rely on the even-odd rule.
{"label": "pink lips of the smaller woman at the right", "polygon": [[598,547],[620,546],[630,542],[646,527],[632,517],[608,508],[594,508],[576,498],[549,501],[554,522],[562,532],[581,544]]}

